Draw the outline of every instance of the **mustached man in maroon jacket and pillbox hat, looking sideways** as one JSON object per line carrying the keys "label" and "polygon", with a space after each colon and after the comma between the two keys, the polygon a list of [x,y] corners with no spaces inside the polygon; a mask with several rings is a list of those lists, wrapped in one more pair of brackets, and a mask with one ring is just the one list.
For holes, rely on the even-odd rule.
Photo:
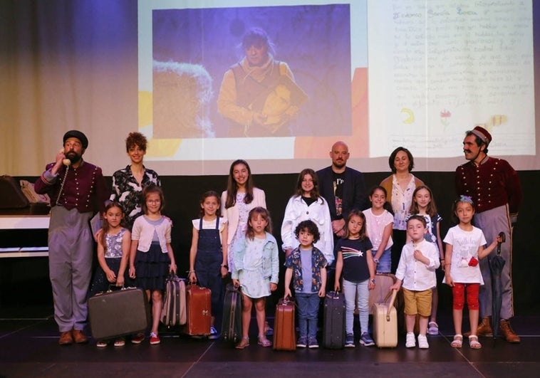
{"label": "mustached man in maroon jacket and pillbox hat, looking sideways", "polygon": [[[501,245],[501,256],[506,263],[502,270],[502,307],[499,325],[491,325],[492,315],[492,283],[489,273],[489,259],[480,260],[480,269],[484,285],[480,286],[479,302],[482,322],[478,326],[479,336],[492,336],[493,327],[501,327],[502,335],[507,342],[519,342],[510,326],[509,319],[514,316],[512,294],[512,224],[516,222],[517,211],[521,204],[521,184],[517,172],[503,159],[487,156],[487,147],[492,135],[477,126],[465,134],[463,152],[469,162],[456,169],[455,185],[458,195],[470,196],[474,201],[474,225],[482,229],[488,242],[494,241],[503,231],[507,235],[507,243]],[[466,337],[467,333],[464,334]]]}

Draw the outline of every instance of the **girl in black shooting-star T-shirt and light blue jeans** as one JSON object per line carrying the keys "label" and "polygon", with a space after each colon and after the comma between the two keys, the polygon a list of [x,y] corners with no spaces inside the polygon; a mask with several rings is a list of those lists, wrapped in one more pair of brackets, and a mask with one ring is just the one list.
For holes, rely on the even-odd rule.
{"label": "girl in black shooting-star T-shirt and light blue jeans", "polygon": [[[368,332],[369,290],[375,288],[375,264],[370,238],[365,233],[365,216],[360,210],[351,210],[346,221],[346,233],[338,240],[336,251],[336,280],[334,290],[340,289],[343,273],[345,295],[345,347],[354,347],[353,319],[355,305],[360,313],[360,344],[375,345]],[[356,303],[355,303],[356,302]]]}

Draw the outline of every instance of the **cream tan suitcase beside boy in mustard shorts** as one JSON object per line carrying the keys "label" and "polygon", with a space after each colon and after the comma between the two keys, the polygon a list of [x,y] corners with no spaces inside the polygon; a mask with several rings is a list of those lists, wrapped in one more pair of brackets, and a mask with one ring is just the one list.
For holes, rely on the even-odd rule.
{"label": "cream tan suitcase beside boy in mustard shorts", "polygon": [[[398,290],[390,290],[383,303],[373,304],[373,340],[382,347],[398,346],[398,313],[395,310],[395,297]],[[390,297],[390,302],[386,303]]]}

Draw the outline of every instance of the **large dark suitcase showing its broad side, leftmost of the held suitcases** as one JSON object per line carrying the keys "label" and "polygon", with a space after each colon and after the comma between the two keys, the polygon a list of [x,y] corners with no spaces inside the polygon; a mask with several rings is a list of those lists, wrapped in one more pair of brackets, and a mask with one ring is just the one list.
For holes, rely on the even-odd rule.
{"label": "large dark suitcase showing its broad side, leftmost of the held suitcases", "polygon": [[150,307],[144,290],[125,288],[90,297],[88,316],[92,337],[110,339],[145,332],[150,322]]}

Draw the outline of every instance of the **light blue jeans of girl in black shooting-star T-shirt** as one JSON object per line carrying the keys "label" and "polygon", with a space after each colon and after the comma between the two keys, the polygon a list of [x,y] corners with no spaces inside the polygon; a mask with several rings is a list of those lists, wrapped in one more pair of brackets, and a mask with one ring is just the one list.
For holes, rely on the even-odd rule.
{"label": "light blue jeans of girl in black shooting-star T-shirt", "polygon": [[345,329],[346,333],[353,333],[354,308],[356,292],[358,291],[357,303],[360,313],[360,334],[368,332],[369,322],[369,280],[351,282],[343,280],[343,294],[345,295]]}

